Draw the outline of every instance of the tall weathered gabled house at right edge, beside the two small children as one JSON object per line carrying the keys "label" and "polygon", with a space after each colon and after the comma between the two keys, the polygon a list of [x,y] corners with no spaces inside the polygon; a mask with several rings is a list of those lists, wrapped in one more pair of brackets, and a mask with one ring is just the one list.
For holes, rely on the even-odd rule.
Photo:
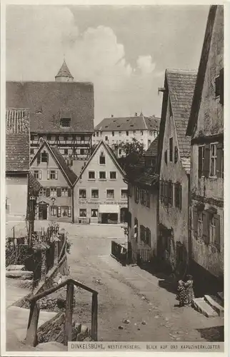
{"label": "tall weathered gabled house at right edge, beside the two small children", "polygon": [[191,136],[191,269],[208,293],[224,286],[224,6],[209,10],[186,134]]}

